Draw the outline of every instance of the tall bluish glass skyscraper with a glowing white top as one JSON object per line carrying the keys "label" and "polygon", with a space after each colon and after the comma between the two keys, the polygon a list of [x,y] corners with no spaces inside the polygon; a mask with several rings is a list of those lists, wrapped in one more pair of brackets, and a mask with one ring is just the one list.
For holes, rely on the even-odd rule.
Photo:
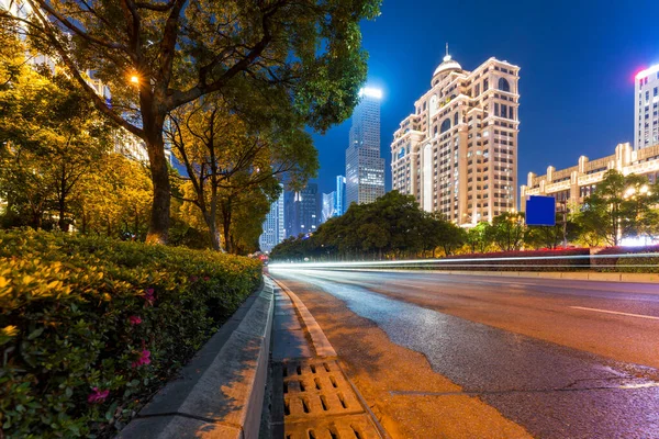
{"label": "tall bluish glass skyscraper with a glowing white top", "polygon": [[346,150],[346,201],[364,204],[384,195],[384,159],[380,157],[380,100],[382,92],[365,88],[353,113],[350,145]]}

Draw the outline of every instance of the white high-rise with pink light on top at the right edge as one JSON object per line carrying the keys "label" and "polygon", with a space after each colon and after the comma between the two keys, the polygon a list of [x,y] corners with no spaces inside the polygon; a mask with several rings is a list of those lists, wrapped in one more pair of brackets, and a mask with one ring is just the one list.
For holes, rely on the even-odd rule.
{"label": "white high-rise with pink light on top at the right edge", "polygon": [[659,64],[636,75],[634,149],[659,144]]}

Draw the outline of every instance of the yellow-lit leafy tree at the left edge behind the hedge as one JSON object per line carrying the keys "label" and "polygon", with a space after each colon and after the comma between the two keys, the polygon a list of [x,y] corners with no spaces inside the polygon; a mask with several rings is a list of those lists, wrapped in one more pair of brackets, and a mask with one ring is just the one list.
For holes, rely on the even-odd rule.
{"label": "yellow-lit leafy tree at the left edge behind the hedge", "polygon": [[111,127],[66,76],[15,71],[3,71],[0,89],[0,191],[26,224],[38,228],[53,212],[66,232],[76,187],[111,147]]}

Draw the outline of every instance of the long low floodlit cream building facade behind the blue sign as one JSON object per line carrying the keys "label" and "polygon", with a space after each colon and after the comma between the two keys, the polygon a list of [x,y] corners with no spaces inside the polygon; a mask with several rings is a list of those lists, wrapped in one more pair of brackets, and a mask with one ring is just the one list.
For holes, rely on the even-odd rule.
{"label": "long low floodlit cream building facade behind the blue sign", "polygon": [[556,170],[552,166],[547,173],[536,176],[528,172],[527,182],[521,188],[522,211],[529,195],[549,195],[557,201],[557,210],[567,204],[581,204],[583,199],[595,190],[607,170],[615,169],[624,176],[636,173],[647,176],[651,183],[659,181],[659,145],[634,149],[629,143],[618,144],[611,156],[589,160],[581,156],[576,166]]}

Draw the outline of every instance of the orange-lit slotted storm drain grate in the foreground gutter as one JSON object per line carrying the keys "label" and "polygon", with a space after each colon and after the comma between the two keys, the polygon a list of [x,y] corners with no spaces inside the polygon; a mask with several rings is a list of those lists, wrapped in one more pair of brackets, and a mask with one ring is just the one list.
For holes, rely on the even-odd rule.
{"label": "orange-lit slotted storm drain grate in the foreground gutter", "polygon": [[273,404],[272,420],[283,427],[283,438],[380,438],[336,360],[277,363],[272,374],[273,397],[283,399]]}

